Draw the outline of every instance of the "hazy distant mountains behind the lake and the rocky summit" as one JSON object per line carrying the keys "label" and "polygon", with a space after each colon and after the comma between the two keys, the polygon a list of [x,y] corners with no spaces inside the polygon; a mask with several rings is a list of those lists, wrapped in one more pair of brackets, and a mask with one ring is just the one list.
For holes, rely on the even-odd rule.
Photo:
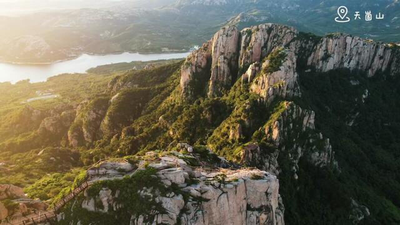
{"label": "hazy distant mountains behind the lake and the rocky summit", "polygon": [[[225,24],[239,28],[265,22],[296,26],[301,31],[326,34],[346,32],[364,38],[397,42],[399,2],[317,0],[135,0],[90,1],[70,4],[27,1],[34,13],[0,17],[0,60],[52,62],[73,58],[83,52],[188,51],[202,44]],[[17,3],[2,3],[18,8]],[[382,12],[384,20],[334,22],[337,8],[346,5],[348,16],[355,11]],[[45,7],[47,6],[47,7]],[[67,7],[69,6],[69,7]],[[54,10],[55,8],[60,10]]]}

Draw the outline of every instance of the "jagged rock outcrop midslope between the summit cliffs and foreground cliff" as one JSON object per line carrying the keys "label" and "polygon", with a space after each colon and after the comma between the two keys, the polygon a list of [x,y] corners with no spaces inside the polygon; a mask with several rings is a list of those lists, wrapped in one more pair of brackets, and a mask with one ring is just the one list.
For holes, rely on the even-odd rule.
{"label": "jagged rock outcrop midslope between the summit cliffs and foreground cliff", "polygon": [[293,102],[283,102],[272,117],[276,119],[268,121],[264,132],[266,139],[274,143],[274,150],[262,149],[256,143],[248,145],[242,161],[278,175],[278,155],[286,151],[295,178],[301,157],[317,167],[338,167],[329,139],[315,131],[314,111],[302,109]]}

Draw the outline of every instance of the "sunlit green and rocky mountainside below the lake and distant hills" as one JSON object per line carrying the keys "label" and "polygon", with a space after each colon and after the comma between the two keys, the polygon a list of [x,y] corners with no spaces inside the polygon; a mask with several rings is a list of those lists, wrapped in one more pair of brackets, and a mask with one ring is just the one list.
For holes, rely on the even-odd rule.
{"label": "sunlit green and rocky mountainside below the lake and distant hills", "polygon": [[53,213],[92,182],[58,224],[400,223],[399,48],[235,24],[183,61],[1,83],[0,183]]}

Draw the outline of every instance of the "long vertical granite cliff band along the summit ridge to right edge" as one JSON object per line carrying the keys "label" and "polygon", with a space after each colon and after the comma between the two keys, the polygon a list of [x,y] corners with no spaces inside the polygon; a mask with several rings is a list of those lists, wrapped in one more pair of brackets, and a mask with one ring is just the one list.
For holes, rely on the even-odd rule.
{"label": "long vertical granite cliff band along the summit ridge to right edge", "polygon": [[[228,26],[186,59],[181,72],[182,95],[193,98],[190,90],[196,85],[208,86],[209,96],[218,95],[218,92],[228,90],[229,83],[232,86],[234,79],[242,76],[250,65],[261,63],[278,48],[286,48],[292,52],[288,54],[288,61],[279,75],[290,75],[288,79],[291,82],[288,83],[296,80],[293,73],[296,72],[296,63],[299,60],[320,72],[338,68],[365,72],[368,76],[378,72],[400,72],[398,50],[359,37],[341,34],[310,37],[300,34],[292,27],[279,24],[253,26],[239,33],[234,26]],[[238,74],[234,73],[235,63],[238,63]],[[208,81],[204,81],[207,78]],[[203,83],[196,82],[200,79]],[[267,83],[265,78],[261,82]],[[294,86],[290,88],[296,89]],[[288,89],[286,91],[290,92]]]}

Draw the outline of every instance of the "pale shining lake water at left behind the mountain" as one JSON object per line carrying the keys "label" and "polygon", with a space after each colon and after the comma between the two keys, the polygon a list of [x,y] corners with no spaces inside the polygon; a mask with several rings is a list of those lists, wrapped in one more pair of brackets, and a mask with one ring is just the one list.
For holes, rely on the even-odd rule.
{"label": "pale shining lake water at left behind the mountain", "polygon": [[30,79],[31,82],[41,82],[46,81],[50,76],[62,73],[84,73],[92,67],[104,64],[185,58],[188,54],[189,53],[139,54],[128,52],[109,55],[82,54],[76,59],[56,62],[53,64],[0,63],[0,82],[15,83],[19,80],[26,79]]}

